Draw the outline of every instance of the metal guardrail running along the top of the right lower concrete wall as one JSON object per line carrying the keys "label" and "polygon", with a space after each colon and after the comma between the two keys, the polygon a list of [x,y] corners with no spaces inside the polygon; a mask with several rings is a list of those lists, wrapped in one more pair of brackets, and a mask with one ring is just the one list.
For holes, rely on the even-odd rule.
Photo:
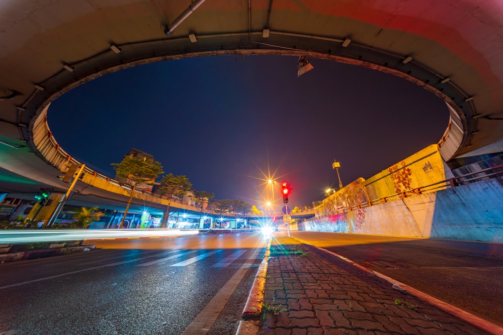
{"label": "metal guardrail running along the top of the right lower concrete wall", "polygon": [[[489,171],[491,173],[486,173]],[[477,176],[481,173],[483,173],[483,175]],[[380,204],[380,203],[386,203],[388,201],[404,199],[406,197],[420,195],[423,193],[436,192],[441,189],[453,188],[453,187],[456,187],[459,185],[466,185],[466,184],[469,184],[469,183],[472,183],[475,181],[479,181],[481,179],[489,179],[491,177],[497,177],[500,175],[503,175],[503,164],[492,166],[492,167],[482,169],[482,170],[479,170],[476,172],[467,173],[467,174],[464,174],[461,176],[449,178],[449,179],[446,179],[443,181],[436,182],[434,184],[430,184],[430,185],[426,185],[426,186],[422,186],[422,187],[418,187],[418,188],[414,188],[414,189],[409,189],[409,190],[406,190],[406,191],[403,191],[400,193],[394,193],[394,194],[387,195],[387,196],[379,198],[379,199],[373,199],[373,200],[363,202],[363,203],[360,203],[358,205],[354,205],[351,207],[341,208],[341,209],[338,209],[335,211],[331,211],[329,213],[325,213],[320,216],[316,216],[316,217],[307,219],[306,221],[312,221],[312,220],[320,219],[322,217],[327,217],[330,215],[346,213],[346,212],[349,212],[349,211],[352,211],[355,209],[369,207],[369,206],[373,206],[373,205]]]}

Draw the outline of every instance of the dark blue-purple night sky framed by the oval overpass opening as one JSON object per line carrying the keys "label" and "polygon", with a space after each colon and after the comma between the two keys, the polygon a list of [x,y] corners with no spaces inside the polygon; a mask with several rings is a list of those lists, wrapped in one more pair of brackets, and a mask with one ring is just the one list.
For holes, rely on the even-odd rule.
{"label": "dark blue-purple night sky framed by the oval overpass opening", "polygon": [[136,148],[215,199],[260,207],[265,179],[286,180],[292,208],[338,186],[334,159],[346,185],[437,143],[447,127],[445,103],[407,80],[315,58],[297,78],[297,59],[218,56],[122,70],[56,99],[49,127],[65,151],[107,176]]}

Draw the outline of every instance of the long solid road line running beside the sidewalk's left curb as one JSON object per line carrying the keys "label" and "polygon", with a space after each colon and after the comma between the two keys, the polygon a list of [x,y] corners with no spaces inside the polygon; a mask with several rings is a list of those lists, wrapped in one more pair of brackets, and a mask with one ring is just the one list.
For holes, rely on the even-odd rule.
{"label": "long solid road line running beside the sidewalk's left curb", "polygon": [[243,264],[239,270],[229,279],[228,282],[218,291],[211,301],[204,307],[199,315],[192,321],[191,324],[184,330],[182,335],[204,335],[206,334],[213,323],[215,323],[218,315],[222,312],[225,304],[229,300],[237,285],[241,282],[250,264],[257,257],[259,249],[255,249],[247,262]]}

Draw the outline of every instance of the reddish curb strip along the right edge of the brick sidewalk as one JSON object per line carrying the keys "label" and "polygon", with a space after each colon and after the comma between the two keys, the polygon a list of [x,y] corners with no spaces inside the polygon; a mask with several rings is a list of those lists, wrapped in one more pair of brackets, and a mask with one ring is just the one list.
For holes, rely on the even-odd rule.
{"label": "reddish curb strip along the right edge of the brick sidewalk", "polygon": [[[310,244],[311,245],[311,244]],[[313,245],[311,245],[313,246]],[[476,315],[473,315],[467,311],[464,311],[456,306],[453,306],[445,301],[442,301],[442,300],[439,300],[437,298],[434,298],[432,297],[431,295],[428,295],[422,291],[419,291],[413,287],[410,287],[402,282],[399,282],[393,278],[390,278],[386,275],[383,275],[382,273],[379,273],[377,271],[374,271],[374,270],[370,270],[370,269],[367,269],[366,267],[364,266],[361,266],[360,264],[344,257],[344,256],[341,256],[339,254],[336,254],[334,252],[331,252],[329,250],[326,250],[326,249],[323,249],[323,248],[320,248],[320,247],[316,247],[316,246],[313,246],[315,248],[317,248],[318,250],[321,250],[321,251],[324,251],[328,254],[331,254],[333,256],[336,256],[354,266],[356,266],[357,268],[359,268],[360,270],[362,271],[365,271],[365,272],[368,272],[368,273],[372,273],[372,274],[375,274],[377,277],[381,278],[381,279],[384,279],[386,280],[387,282],[389,282],[390,284],[394,285],[399,285],[401,289],[403,289],[404,291],[408,292],[409,294],[413,295],[413,296],[416,296],[417,298],[420,298],[440,309],[442,309],[443,311],[453,315],[453,316],[456,316],[462,320],[464,320],[465,322],[467,323],[470,323],[471,325],[477,327],[477,328],[480,328],[482,330],[485,330],[485,331],[488,331],[494,335],[497,335],[497,334],[503,334],[503,327],[500,327],[494,323],[491,323],[487,320],[484,320]]]}

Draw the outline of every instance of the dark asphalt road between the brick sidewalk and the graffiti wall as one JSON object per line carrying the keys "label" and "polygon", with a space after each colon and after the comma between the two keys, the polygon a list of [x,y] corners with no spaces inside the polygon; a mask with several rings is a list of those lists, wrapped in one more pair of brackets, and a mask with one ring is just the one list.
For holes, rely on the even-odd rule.
{"label": "dark asphalt road between the brick sidewalk and the graffiti wall", "polygon": [[317,232],[291,236],[503,325],[503,244]]}

